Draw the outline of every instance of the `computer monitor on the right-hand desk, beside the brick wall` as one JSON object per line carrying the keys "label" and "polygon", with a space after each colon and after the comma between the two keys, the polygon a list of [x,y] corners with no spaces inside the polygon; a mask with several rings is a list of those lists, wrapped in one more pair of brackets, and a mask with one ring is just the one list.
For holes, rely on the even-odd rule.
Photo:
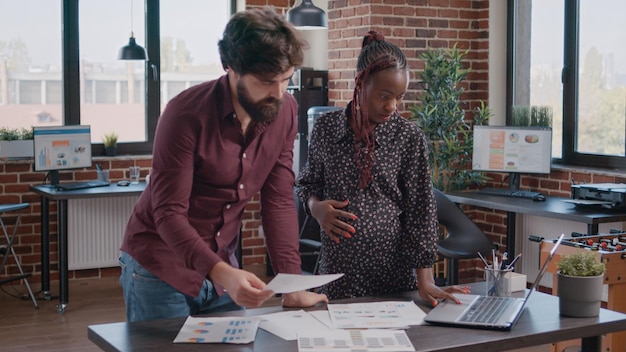
{"label": "computer monitor on the right-hand desk, beside the brick wall", "polygon": [[551,127],[474,126],[472,169],[509,172],[512,190],[520,174],[549,174],[551,165]]}

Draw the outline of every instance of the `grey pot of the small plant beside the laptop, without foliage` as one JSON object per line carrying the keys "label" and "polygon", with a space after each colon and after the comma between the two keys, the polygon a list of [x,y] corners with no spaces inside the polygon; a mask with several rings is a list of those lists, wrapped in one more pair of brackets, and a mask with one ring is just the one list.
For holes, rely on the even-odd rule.
{"label": "grey pot of the small plant beside the laptop, without foliage", "polygon": [[604,274],[598,276],[568,276],[557,274],[557,295],[561,315],[577,318],[600,314]]}

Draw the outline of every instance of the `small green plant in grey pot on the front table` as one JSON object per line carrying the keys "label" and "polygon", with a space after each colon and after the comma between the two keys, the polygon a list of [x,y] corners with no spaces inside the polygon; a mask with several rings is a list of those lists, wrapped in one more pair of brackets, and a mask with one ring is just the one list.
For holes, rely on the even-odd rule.
{"label": "small green plant in grey pot on the front table", "polygon": [[580,250],[561,256],[556,264],[561,315],[595,317],[600,314],[606,266],[595,251]]}

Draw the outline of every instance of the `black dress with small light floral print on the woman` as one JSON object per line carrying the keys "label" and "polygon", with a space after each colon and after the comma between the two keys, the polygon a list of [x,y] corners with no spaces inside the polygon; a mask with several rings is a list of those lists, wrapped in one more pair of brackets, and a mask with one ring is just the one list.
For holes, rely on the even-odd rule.
{"label": "black dress with small light floral print on the woman", "polygon": [[[348,200],[346,220],[356,232],[333,242],[322,230],[320,273],[345,275],[320,289],[330,299],[417,289],[415,268],[432,267],[437,251],[437,212],[424,133],[394,114],[374,130],[376,163],[372,182],[359,189],[354,133],[345,111],[320,117],[308,161],[298,176],[306,204]],[[308,211],[308,209],[307,209]]]}

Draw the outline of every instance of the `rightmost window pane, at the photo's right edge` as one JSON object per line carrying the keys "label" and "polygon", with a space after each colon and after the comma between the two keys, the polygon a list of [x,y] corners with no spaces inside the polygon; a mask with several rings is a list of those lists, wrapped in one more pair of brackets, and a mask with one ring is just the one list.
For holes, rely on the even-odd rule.
{"label": "rightmost window pane, at the photo's right edge", "polygon": [[[570,5],[571,6],[571,5]],[[575,8],[569,11],[576,11]],[[621,43],[626,23],[621,14],[626,4],[619,0],[580,1],[577,102],[574,154],[624,157],[626,113],[626,50]],[[575,23],[568,23],[573,36]],[[570,63],[566,61],[566,67]],[[569,79],[566,81],[569,84]]]}

